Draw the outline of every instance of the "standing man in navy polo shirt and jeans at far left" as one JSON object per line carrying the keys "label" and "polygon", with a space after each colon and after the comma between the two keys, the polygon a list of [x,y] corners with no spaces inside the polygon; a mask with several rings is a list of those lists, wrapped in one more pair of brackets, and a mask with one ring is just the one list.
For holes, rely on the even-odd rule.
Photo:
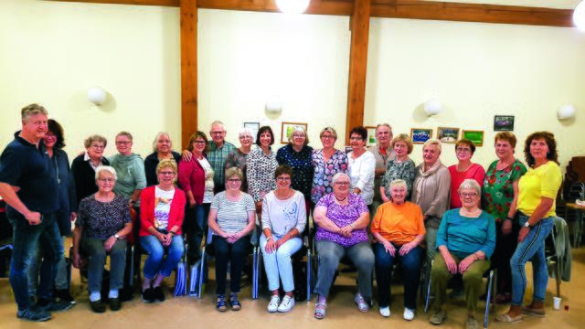
{"label": "standing man in navy polo shirt and jeans at far left", "polygon": [[[27,321],[47,321],[50,312],[65,311],[69,302],[55,302],[53,286],[63,242],[55,213],[58,210],[58,181],[43,137],[48,131],[48,111],[30,104],[21,111],[22,130],[15,133],[0,155],[0,196],[8,205],[6,217],[13,227],[13,256],[10,284],[15,294],[16,316]],[[17,191],[17,192],[16,192]],[[37,288],[37,303],[28,296],[28,264],[37,243],[44,260]]]}

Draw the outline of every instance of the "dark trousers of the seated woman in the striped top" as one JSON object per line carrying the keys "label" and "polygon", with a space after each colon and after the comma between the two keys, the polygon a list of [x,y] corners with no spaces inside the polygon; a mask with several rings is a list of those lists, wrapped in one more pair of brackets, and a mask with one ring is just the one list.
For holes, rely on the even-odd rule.
{"label": "dark trousers of the seated woman in the striped top", "polygon": [[241,237],[238,241],[231,244],[226,239],[214,235],[213,247],[216,251],[216,293],[226,294],[228,262],[230,263],[229,291],[231,293],[238,293],[239,282],[241,281],[241,269],[244,266],[244,259],[250,250],[250,236]]}

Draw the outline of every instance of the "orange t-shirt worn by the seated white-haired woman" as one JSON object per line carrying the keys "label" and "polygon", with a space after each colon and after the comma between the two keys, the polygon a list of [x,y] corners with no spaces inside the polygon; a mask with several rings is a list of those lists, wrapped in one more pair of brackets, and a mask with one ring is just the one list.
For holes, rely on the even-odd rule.
{"label": "orange t-shirt worn by the seated white-haired woman", "polygon": [[370,230],[398,245],[426,233],[420,207],[408,201],[403,205],[387,202],[378,207]]}

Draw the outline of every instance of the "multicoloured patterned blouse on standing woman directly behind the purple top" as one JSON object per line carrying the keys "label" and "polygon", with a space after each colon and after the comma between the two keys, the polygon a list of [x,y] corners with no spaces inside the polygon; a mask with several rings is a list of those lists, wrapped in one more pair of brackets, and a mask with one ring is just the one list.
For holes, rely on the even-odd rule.
{"label": "multicoloured patterned blouse on standing woman directly behind the purple top", "polygon": [[316,204],[319,199],[333,192],[333,176],[337,173],[347,174],[347,154],[335,150],[325,163],[323,149],[313,151],[314,177],[311,200]]}

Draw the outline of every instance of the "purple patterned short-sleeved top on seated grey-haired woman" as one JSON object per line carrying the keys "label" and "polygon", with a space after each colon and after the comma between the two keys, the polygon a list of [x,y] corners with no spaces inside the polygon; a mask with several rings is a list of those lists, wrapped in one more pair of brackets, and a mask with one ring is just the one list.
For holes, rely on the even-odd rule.
{"label": "purple patterned short-sleeved top on seated grey-haired woman", "polygon": [[[368,212],[364,199],[353,193],[347,195],[347,205],[338,205],[335,203],[335,196],[333,193],[330,193],[323,196],[315,207],[326,207],[327,218],[331,219],[331,221],[340,228],[355,222],[362,214]],[[317,234],[314,239],[329,240],[336,242],[343,247],[351,247],[358,243],[367,241],[367,230],[366,228],[354,229],[354,231],[351,232],[351,238],[346,238],[319,227],[317,228]]]}

